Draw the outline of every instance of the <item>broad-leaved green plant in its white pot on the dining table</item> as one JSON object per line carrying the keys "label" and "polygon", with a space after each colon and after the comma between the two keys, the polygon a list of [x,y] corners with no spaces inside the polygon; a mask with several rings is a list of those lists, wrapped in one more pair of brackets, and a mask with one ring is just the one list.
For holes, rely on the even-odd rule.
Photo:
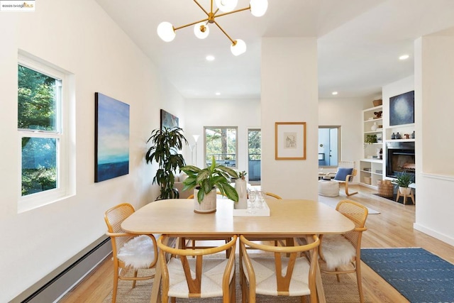
{"label": "broad-leaved green plant in its white pot on the dining table", "polygon": [[194,188],[194,211],[207,214],[216,211],[216,191],[228,199],[238,202],[238,192],[230,184],[230,178],[238,179],[235,170],[216,163],[214,156],[211,165],[204,169],[194,165],[181,167],[188,177],[184,180],[183,190]]}

